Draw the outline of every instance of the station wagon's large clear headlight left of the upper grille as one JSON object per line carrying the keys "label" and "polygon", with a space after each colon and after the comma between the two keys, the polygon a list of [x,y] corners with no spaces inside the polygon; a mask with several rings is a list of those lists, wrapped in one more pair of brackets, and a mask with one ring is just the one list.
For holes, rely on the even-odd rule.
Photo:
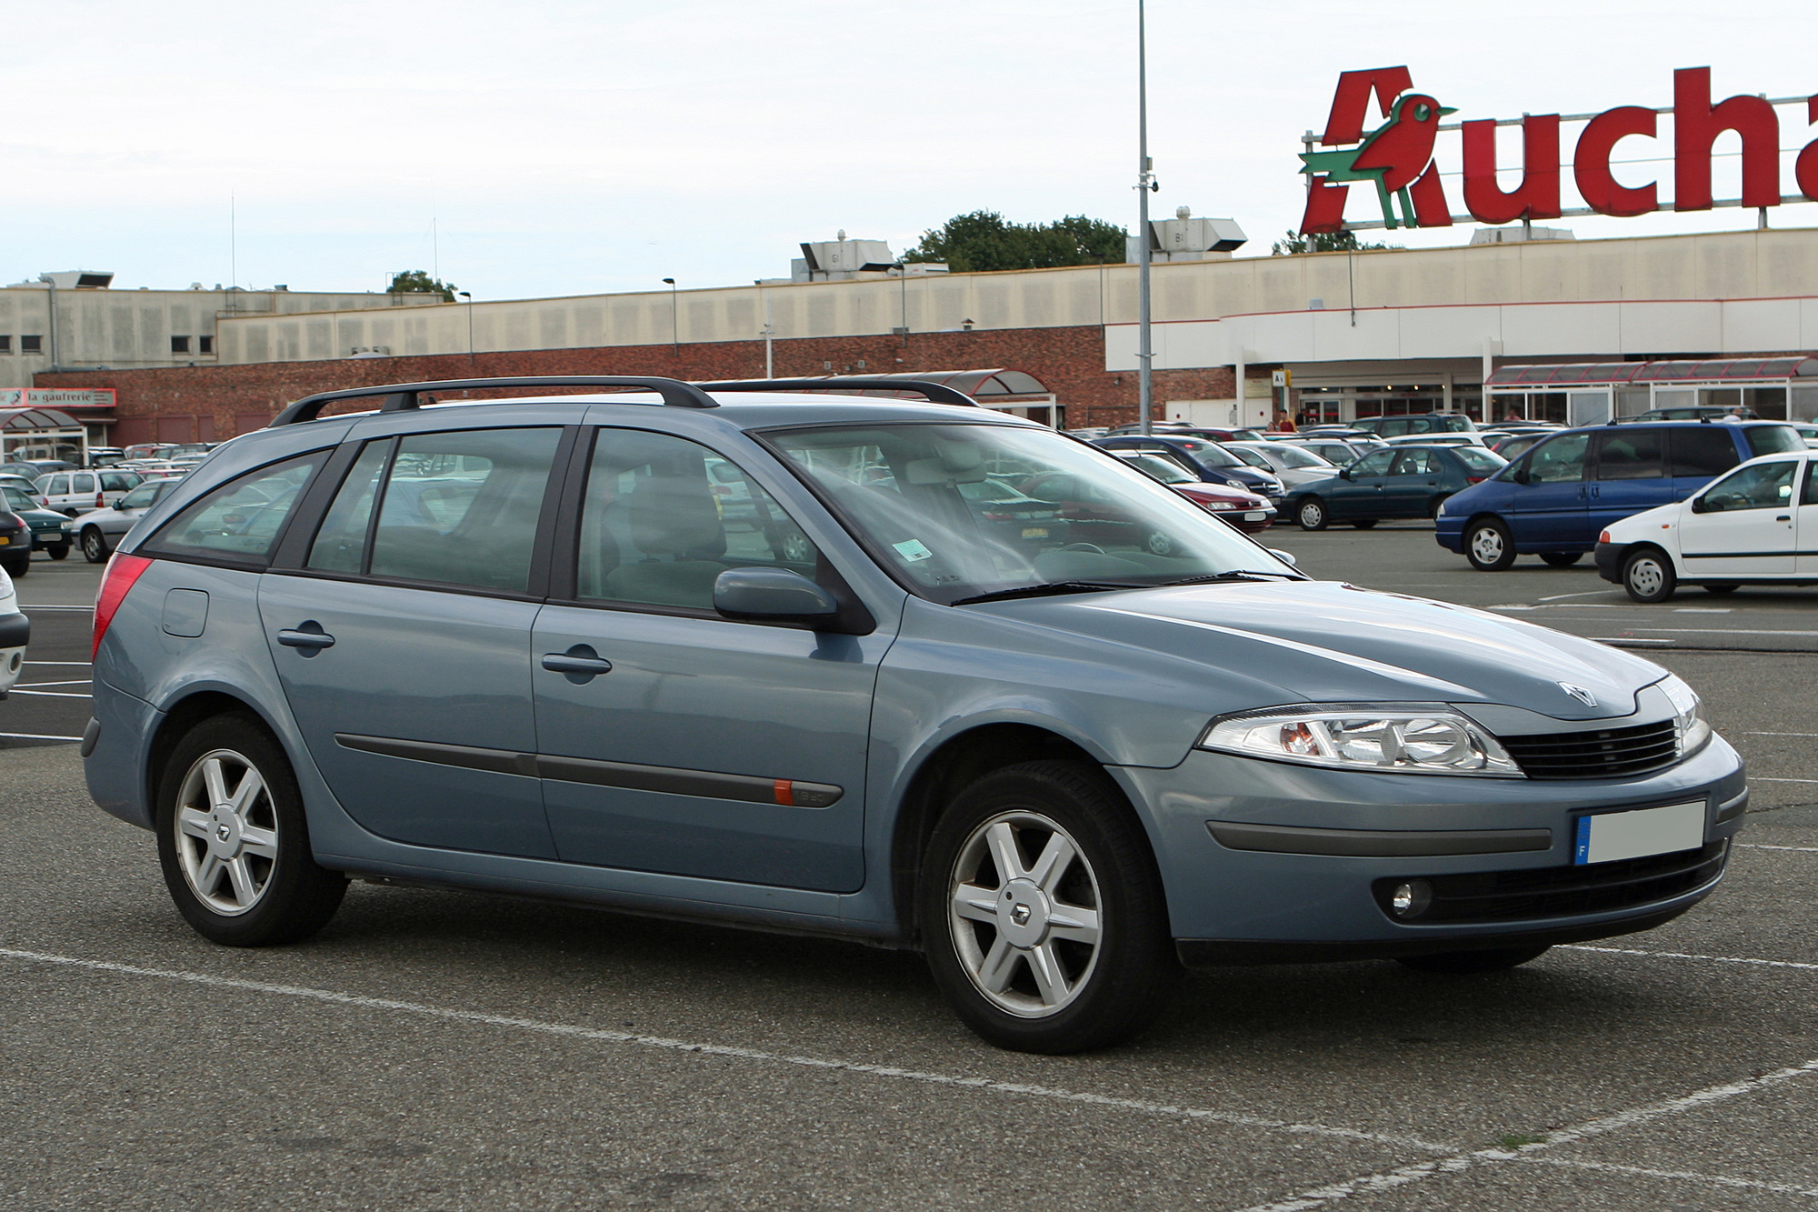
{"label": "station wagon's large clear headlight left of the upper grille", "polygon": [[1200,737],[1200,748],[1378,773],[1523,777],[1496,737],[1447,706],[1425,702],[1220,715]]}

